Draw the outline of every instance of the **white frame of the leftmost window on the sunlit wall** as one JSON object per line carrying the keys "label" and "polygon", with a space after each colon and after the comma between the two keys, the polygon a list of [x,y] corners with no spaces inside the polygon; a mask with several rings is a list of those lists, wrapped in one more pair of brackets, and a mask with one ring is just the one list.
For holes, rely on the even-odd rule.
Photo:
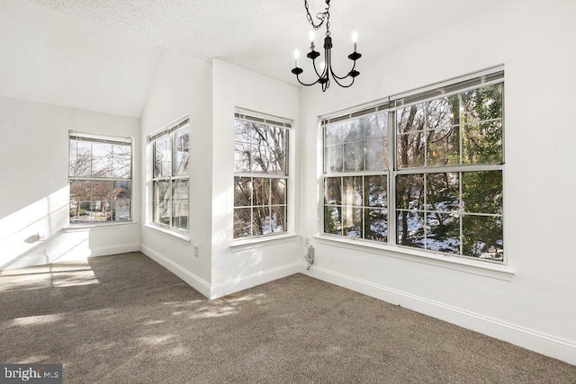
{"label": "white frame of the leftmost window on the sunlit wall", "polygon": [[[111,144],[111,145],[121,145],[121,146],[130,146],[130,177],[95,177],[95,176],[78,176],[71,174],[71,142],[72,140],[76,139],[76,141],[85,141],[94,142],[94,143],[103,143],[103,144]],[[77,154],[76,154],[77,156]],[[92,164],[92,161],[91,161]],[[112,168],[111,168],[112,169]],[[130,219],[128,220],[110,220],[110,221],[87,221],[87,222],[76,222],[72,223],[70,221],[71,211],[70,211],[70,204],[71,204],[71,192],[70,192],[70,185],[73,182],[127,182],[130,183],[130,209],[129,215]],[[133,223],[134,222],[134,214],[133,214],[133,191],[134,191],[134,140],[133,138],[128,137],[115,137],[115,136],[105,136],[93,133],[85,133],[85,132],[78,132],[75,130],[68,131],[68,217],[67,217],[67,224],[70,227],[86,227],[86,226],[105,226],[105,225],[116,225],[116,224],[124,224],[124,223]],[[113,201],[112,201],[113,202]]]}

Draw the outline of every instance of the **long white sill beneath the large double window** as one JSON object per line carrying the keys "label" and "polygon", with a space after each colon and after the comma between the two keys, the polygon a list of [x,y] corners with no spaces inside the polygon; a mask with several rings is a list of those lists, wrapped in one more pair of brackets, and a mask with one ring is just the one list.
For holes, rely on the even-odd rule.
{"label": "long white sill beneath the large double window", "polygon": [[384,246],[366,243],[365,240],[353,238],[338,238],[330,236],[314,237],[319,243],[330,246],[341,246],[355,251],[370,254],[385,255],[414,263],[425,263],[440,268],[447,268],[459,272],[473,273],[503,281],[512,281],[514,269],[507,265],[482,262],[439,253],[407,249],[401,246]]}

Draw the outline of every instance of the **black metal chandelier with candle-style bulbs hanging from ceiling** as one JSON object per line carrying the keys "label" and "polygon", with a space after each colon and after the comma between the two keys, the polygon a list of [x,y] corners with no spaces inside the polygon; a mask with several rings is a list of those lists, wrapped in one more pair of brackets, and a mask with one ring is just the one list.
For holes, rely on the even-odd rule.
{"label": "black metal chandelier with candle-style bulbs hanging from ceiling", "polygon": [[[313,83],[304,83],[300,79],[300,75],[304,70],[301,67],[298,67],[299,58],[300,58],[300,51],[298,49],[294,50],[294,60],[295,60],[295,67],[292,70],[292,73],[296,75],[296,79],[302,85],[310,86],[315,84],[320,84],[322,86],[322,92],[326,92],[326,90],[330,86],[330,78],[333,79],[338,85],[347,88],[350,85],[354,84],[354,80],[356,76],[360,75],[360,72],[356,71],[356,60],[361,58],[362,55],[356,52],[356,42],[358,40],[358,34],[356,31],[352,33],[352,42],[354,42],[354,52],[348,55],[348,58],[353,61],[352,69],[347,73],[346,76],[338,76],[334,73],[332,69],[332,38],[330,37],[330,0],[326,0],[326,10],[324,12],[320,12],[316,14],[316,18],[319,20],[318,23],[315,23],[312,19],[310,14],[310,10],[308,7],[308,1],[304,0],[304,7],[306,8],[306,17],[308,21],[312,24],[313,30],[310,32],[310,52],[306,55],[307,58],[311,58],[312,60],[312,67],[314,67],[314,72],[316,72],[316,76],[318,79]],[[326,37],[324,38],[324,61],[320,63],[320,71],[319,67],[316,65],[316,59],[320,57],[320,52],[314,50],[316,47],[314,46],[314,38],[315,34],[314,31],[318,31],[318,29],[326,22]]]}

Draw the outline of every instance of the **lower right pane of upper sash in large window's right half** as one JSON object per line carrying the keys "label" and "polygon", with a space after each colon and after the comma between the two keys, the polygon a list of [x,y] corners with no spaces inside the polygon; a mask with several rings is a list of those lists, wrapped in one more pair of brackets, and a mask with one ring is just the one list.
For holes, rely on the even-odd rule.
{"label": "lower right pane of upper sash in large window's right half", "polygon": [[502,121],[464,125],[462,148],[464,164],[501,164]]}

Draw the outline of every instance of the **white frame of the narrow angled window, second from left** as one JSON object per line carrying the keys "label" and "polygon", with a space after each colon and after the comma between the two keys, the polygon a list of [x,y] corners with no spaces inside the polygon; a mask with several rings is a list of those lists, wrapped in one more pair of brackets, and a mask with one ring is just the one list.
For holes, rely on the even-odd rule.
{"label": "white frame of the narrow angled window, second from left", "polygon": [[[174,164],[175,164],[175,133],[182,130],[188,129],[188,139],[191,138],[191,123],[189,116],[184,116],[176,121],[167,124],[162,129],[157,129],[155,132],[148,135],[148,164],[150,165],[150,210],[148,211],[148,225],[161,229],[162,231],[166,231],[168,233],[172,233],[177,237],[183,237],[187,240],[187,236],[190,234],[190,156],[188,157],[188,173],[187,174],[174,174]],[[154,169],[155,169],[155,155],[156,155],[156,142],[159,138],[169,139],[170,143],[170,173],[164,176],[155,176]],[[188,151],[191,151],[191,144],[188,144]],[[173,222],[174,220],[174,211],[173,211],[173,185],[175,181],[186,181],[188,182],[188,211],[186,215],[186,228],[178,228],[175,227]],[[167,224],[155,221],[155,183],[157,182],[167,182],[168,183],[168,190],[167,193],[169,194],[169,221]]]}

